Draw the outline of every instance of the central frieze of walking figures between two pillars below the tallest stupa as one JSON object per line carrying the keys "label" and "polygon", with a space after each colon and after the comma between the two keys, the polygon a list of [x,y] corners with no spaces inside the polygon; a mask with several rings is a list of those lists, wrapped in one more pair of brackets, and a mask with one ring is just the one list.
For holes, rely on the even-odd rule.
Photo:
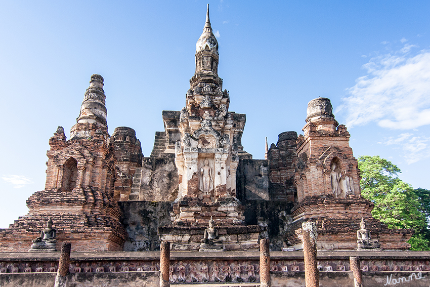
{"label": "central frieze of walking figures between two pillars below the tallest stupa", "polygon": [[169,278],[176,282],[255,282],[258,280],[260,265],[251,261],[233,261],[218,264],[217,261],[207,264],[205,261],[183,261],[170,265]]}

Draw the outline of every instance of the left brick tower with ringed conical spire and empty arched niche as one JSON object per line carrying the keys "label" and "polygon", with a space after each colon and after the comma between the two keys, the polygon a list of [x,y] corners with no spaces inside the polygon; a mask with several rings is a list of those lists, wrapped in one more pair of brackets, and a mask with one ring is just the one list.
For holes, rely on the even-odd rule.
{"label": "left brick tower with ringed conical spire and empty arched niche", "polygon": [[27,251],[48,218],[57,229],[57,250],[67,241],[73,251],[122,251],[126,233],[113,199],[116,158],[105,99],[103,77],[92,75],[70,140],[62,127],[49,140],[45,190],[27,200],[27,215],[0,230],[2,252]]}

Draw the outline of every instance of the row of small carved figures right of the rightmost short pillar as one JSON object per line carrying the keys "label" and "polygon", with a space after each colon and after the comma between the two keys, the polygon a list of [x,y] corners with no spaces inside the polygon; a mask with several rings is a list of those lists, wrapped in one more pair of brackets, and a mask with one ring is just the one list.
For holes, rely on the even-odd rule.
{"label": "row of small carved figures right of the rightmost short pillar", "polygon": [[[382,260],[380,264],[377,264],[375,260],[360,262],[361,271],[430,271],[430,262],[425,261],[404,261],[396,262],[393,261],[387,264],[386,260]],[[378,266],[379,265],[379,266]]]}

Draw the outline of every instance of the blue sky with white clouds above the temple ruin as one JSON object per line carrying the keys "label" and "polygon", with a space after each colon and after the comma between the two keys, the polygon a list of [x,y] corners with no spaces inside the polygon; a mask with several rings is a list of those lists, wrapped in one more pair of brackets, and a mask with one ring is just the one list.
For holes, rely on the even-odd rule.
{"label": "blue sky with white clouds above the temple ruin", "polygon": [[[90,76],[105,78],[110,134],[136,130],[149,156],[162,110],[181,110],[206,1],[3,2],[0,227],[44,189],[48,140],[75,124]],[[302,133],[307,103],[331,99],[354,155],[380,155],[430,188],[430,2],[209,1],[230,111],[244,149]]]}

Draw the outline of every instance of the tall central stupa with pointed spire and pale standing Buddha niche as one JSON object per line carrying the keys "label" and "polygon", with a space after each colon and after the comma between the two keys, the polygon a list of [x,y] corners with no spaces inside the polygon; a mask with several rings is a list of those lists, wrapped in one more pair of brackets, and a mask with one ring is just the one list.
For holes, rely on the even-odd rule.
{"label": "tall central stupa with pointed spire and pale standing Buddha niche", "polygon": [[[245,250],[257,248],[259,228],[244,224],[244,208],[236,198],[239,157],[251,158],[241,145],[246,117],[229,111],[230,97],[227,90],[223,91],[218,61],[218,41],[210,26],[208,5],[203,33],[196,44],[196,71],[179,123],[166,120],[175,112],[163,112],[169,143],[173,144],[171,138],[178,138],[170,148],[175,148],[179,194],[173,206],[173,225],[160,227],[158,234],[161,240],[173,242],[173,249],[198,249],[211,216],[225,249],[243,250],[245,245]],[[253,234],[246,236],[244,245],[239,234],[249,233]]]}

